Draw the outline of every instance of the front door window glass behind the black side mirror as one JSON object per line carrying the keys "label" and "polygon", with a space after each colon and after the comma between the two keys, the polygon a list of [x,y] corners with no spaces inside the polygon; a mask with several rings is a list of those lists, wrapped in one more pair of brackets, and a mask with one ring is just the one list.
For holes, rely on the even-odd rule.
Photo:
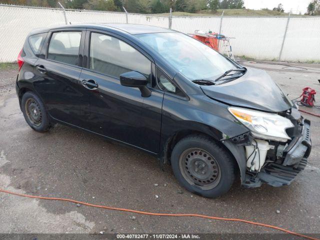
{"label": "front door window glass behind the black side mirror", "polygon": [[151,62],[132,46],[115,37],[91,33],[89,68],[119,78],[128,71],[138,71],[150,78]]}

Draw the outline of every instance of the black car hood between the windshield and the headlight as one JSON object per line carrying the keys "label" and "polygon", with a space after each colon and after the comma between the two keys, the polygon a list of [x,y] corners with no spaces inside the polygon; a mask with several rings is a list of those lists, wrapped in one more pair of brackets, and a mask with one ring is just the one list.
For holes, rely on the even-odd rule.
{"label": "black car hood between the windshield and the headlight", "polygon": [[292,107],[292,102],[264,71],[247,67],[246,73],[220,85],[201,85],[210,98],[233,106],[279,112]]}

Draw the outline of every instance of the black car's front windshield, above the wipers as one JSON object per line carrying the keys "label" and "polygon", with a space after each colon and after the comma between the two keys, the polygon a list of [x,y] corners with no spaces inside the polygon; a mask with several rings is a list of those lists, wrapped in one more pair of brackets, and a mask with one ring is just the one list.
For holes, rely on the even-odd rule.
{"label": "black car's front windshield, above the wipers", "polygon": [[135,35],[189,80],[214,80],[235,66],[212,48],[183,33]]}

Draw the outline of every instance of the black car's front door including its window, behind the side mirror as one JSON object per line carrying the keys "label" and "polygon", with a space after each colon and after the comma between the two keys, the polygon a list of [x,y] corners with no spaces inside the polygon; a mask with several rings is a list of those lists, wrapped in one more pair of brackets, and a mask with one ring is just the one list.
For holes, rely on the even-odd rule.
{"label": "black car's front door including its window, behind the side mirror", "polygon": [[80,80],[90,91],[90,130],[158,152],[163,92],[153,89],[149,97],[142,97],[138,88],[122,86],[119,80],[121,73],[134,70],[151,82],[151,59],[110,33],[86,36],[88,61]]}

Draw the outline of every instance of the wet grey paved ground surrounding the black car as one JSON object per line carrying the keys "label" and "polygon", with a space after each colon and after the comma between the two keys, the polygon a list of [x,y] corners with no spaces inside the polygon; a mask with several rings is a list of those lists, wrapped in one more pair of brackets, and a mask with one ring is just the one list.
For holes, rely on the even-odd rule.
{"label": "wet grey paved ground surrounding the black car", "polygon": [[[290,98],[304,86],[320,92],[318,65],[293,64],[307,69],[288,70],[283,65],[242,63],[265,69]],[[16,70],[0,71],[0,188],[137,210],[244,218],[320,233],[320,118],[303,114],[311,120],[313,148],[309,165],[291,185],[246,189],[236,181],[227,194],[207,199],[182,189],[169,166],[162,171],[144,152],[62,125],[46,133],[33,131],[20,112],[15,77]],[[0,209],[0,233],[278,232],[238,222],[145,216],[3,193]]]}

